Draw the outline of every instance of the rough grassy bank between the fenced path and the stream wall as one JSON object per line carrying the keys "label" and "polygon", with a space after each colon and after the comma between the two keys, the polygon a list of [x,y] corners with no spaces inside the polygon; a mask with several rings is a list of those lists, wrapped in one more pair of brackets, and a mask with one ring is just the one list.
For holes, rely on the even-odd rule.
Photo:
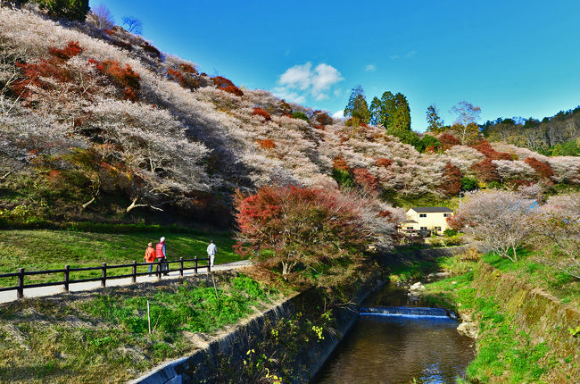
{"label": "rough grassy bank between the fenced path and the stream wall", "polygon": [[0,382],[130,380],[279,296],[243,275],[216,277],[217,291],[200,278],[1,305]]}

